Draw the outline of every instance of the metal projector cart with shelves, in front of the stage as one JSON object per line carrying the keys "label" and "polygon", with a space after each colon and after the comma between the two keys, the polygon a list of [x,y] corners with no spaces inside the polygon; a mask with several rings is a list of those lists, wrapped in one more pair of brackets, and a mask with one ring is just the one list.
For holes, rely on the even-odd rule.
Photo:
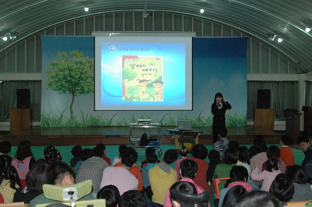
{"label": "metal projector cart with shelves, in front of the stage", "polygon": [[[129,123],[129,147],[132,147],[134,149],[146,149],[148,147],[154,147],[155,149],[157,149],[158,154],[162,155],[163,150],[160,148],[160,145],[161,145],[161,142],[160,142],[160,126],[161,126],[161,124],[159,121],[157,121],[157,122],[156,121],[150,121],[150,122],[145,122],[145,123],[143,123],[143,122]],[[135,142],[135,139],[138,139],[138,138],[134,138],[132,136],[132,128],[158,128],[158,136],[157,136],[158,141],[153,142],[153,143],[150,142],[149,145],[147,145],[147,146],[139,146],[140,144],[137,144],[137,143],[140,143],[140,141],[138,141],[137,143]],[[157,143],[157,145],[155,145],[155,143]]]}

